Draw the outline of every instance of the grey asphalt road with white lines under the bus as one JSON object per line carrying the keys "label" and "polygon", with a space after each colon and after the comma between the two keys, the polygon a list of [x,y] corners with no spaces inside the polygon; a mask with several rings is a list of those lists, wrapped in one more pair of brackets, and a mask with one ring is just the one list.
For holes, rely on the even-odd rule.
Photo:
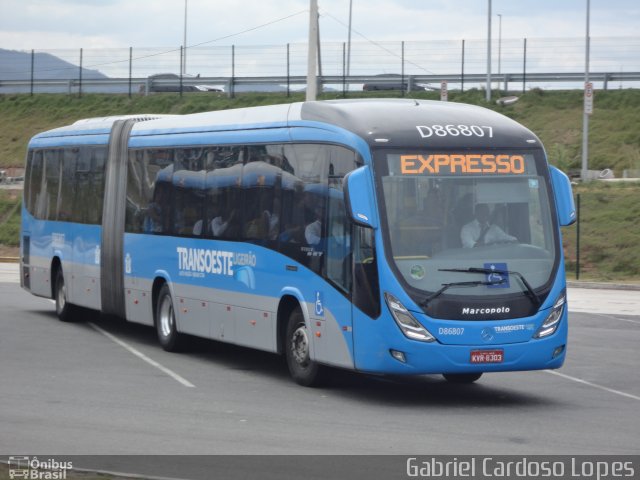
{"label": "grey asphalt road with white lines under the bus", "polygon": [[557,372],[456,386],[336,371],[310,389],[272,354],[172,354],[148,327],[59,322],[15,283],[0,309],[1,454],[640,453],[640,316],[572,312]]}

